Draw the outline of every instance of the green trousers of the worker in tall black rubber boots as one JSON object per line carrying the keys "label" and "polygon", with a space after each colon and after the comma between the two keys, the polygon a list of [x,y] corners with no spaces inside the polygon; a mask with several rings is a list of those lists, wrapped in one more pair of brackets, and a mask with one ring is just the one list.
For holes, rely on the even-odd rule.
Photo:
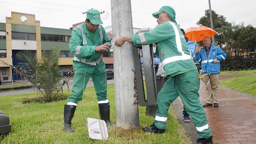
{"label": "green trousers of the worker in tall black rubber boots", "polygon": [[[88,72],[85,72],[88,71]],[[84,75],[85,74],[85,75]],[[68,102],[78,103],[82,100],[84,89],[88,80],[92,76],[92,82],[94,84],[95,92],[98,102],[108,100],[107,98],[107,77],[106,70],[100,72],[95,67],[75,69],[75,75],[73,80],[73,88]]]}

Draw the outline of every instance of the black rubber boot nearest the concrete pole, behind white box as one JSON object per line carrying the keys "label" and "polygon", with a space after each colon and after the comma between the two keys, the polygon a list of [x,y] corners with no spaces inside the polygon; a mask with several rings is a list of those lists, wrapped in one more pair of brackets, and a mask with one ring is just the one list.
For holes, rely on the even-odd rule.
{"label": "black rubber boot nearest the concrete pole, behind white box", "polygon": [[100,119],[104,120],[107,125],[114,125],[110,122],[110,106],[108,103],[98,104],[99,105],[99,112],[100,112]]}

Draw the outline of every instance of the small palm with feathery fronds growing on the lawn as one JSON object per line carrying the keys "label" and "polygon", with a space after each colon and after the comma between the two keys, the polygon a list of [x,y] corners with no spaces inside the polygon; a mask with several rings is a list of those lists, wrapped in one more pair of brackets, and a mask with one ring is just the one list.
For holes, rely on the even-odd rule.
{"label": "small palm with feathery fronds growing on the lawn", "polygon": [[[68,84],[66,80],[62,80],[59,72],[59,54],[59,49],[42,53],[41,59],[36,58],[36,54],[29,50],[21,50],[16,54],[17,59],[23,61],[14,66],[16,72],[28,78],[48,102],[54,100],[64,84]],[[52,95],[54,91],[57,92]]]}

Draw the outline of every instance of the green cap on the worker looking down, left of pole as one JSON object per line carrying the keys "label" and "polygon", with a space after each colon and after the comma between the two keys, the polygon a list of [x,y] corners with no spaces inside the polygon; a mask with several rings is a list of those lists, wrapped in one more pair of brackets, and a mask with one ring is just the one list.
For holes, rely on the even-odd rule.
{"label": "green cap on the worker looking down, left of pole", "polygon": [[86,11],[86,18],[94,25],[103,24],[100,19],[100,12],[98,10],[90,9]]}

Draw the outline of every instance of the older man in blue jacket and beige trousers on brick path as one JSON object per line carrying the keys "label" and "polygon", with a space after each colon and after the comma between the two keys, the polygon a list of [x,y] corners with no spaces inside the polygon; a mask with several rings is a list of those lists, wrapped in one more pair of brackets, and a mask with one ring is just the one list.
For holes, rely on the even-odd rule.
{"label": "older man in blue jacket and beige trousers on brick path", "polygon": [[[204,37],[204,47],[196,50],[196,62],[201,62],[201,68],[204,70],[204,74],[208,74],[204,77],[207,99],[206,104],[203,105],[204,107],[212,106],[212,104],[214,104],[214,107],[219,106],[218,82],[220,74],[220,61],[226,59],[226,52],[224,52],[218,46],[214,46],[211,44],[211,42],[212,41],[208,36]],[[208,82],[212,85],[209,88]]]}

